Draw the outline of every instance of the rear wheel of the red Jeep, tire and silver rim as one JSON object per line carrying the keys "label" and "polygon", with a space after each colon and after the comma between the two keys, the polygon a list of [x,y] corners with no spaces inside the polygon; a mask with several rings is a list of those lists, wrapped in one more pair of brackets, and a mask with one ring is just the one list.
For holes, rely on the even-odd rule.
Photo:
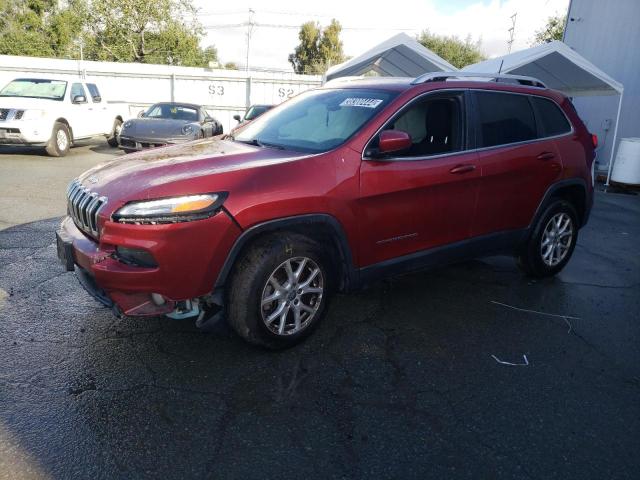
{"label": "rear wheel of the red Jeep, tire and silver rim", "polygon": [[576,210],[566,200],[556,199],[540,215],[531,236],[518,255],[518,266],[532,277],[555,275],[569,262],[577,241]]}

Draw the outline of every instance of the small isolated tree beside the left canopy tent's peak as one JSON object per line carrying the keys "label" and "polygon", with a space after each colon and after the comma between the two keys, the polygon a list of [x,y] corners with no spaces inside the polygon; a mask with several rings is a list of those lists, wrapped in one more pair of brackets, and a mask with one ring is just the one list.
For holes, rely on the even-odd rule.
{"label": "small isolated tree beside the left canopy tent's peak", "polygon": [[341,31],[342,26],[335,19],[324,29],[317,22],[302,24],[298,33],[300,43],[289,55],[293,70],[316,75],[326,72],[331,65],[343,62]]}

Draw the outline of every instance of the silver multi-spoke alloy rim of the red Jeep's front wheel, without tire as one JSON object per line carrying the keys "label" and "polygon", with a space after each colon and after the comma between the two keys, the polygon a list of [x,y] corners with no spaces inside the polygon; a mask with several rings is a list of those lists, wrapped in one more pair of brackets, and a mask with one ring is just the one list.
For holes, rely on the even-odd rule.
{"label": "silver multi-spoke alloy rim of the red Jeep's front wheel, without tire", "polygon": [[276,335],[298,333],[316,317],[323,292],[324,277],[316,262],[290,258],[271,273],[262,290],[262,321]]}

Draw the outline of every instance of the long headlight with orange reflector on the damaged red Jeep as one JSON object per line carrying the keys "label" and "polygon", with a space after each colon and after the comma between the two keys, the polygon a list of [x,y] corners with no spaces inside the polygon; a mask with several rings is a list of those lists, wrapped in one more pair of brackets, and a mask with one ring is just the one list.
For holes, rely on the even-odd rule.
{"label": "long headlight with orange reflector on the damaged red Jeep", "polygon": [[215,215],[227,198],[226,192],[186,195],[131,202],[113,214],[120,223],[177,223]]}

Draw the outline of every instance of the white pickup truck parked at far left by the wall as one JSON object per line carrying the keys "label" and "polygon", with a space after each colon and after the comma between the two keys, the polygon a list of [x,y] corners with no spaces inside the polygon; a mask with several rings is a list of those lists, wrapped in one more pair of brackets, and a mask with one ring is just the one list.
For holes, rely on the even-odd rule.
{"label": "white pickup truck parked at far left by the wall", "polygon": [[76,140],[103,135],[117,147],[122,121],[92,81],[17,78],[0,90],[0,145],[40,145],[62,157]]}

